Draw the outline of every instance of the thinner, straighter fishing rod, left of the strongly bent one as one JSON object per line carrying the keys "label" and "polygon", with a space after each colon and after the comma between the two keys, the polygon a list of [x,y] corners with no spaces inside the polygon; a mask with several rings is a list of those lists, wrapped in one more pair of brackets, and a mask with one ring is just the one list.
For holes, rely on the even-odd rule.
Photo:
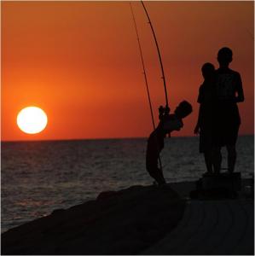
{"label": "thinner, straighter fishing rod, left of the strongly bent one", "polygon": [[[137,42],[138,42],[138,45],[139,45],[139,52],[140,52],[140,57],[141,57],[141,62],[142,62],[142,70],[143,70],[144,81],[145,81],[145,84],[146,84],[146,90],[147,90],[147,95],[148,95],[149,108],[150,108],[150,113],[151,113],[151,117],[152,117],[152,121],[153,121],[153,125],[154,125],[154,130],[155,130],[156,127],[155,127],[155,122],[154,122],[154,113],[153,113],[151,97],[150,97],[149,90],[148,90],[148,79],[147,79],[146,69],[145,69],[143,56],[142,56],[142,46],[141,46],[141,43],[140,43],[140,38],[139,38],[137,26],[136,26],[136,18],[135,18],[134,11],[133,11],[131,3],[130,3],[130,10],[131,10],[131,14],[132,14],[132,17],[133,17],[134,26],[135,26],[135,29],[136,29],[136,38],[137,38]],[[160,159],[160,154],[159,154],[159,168],[162,171],[162,163],[161,163],[161,159]]]}

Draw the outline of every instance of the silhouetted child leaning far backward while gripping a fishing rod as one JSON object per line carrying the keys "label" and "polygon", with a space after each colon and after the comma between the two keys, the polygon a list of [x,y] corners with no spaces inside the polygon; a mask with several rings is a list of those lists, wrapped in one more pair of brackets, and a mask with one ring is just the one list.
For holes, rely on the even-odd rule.
{"label": "silhouetted child leaning far backward while gripping a fishing rod", "polygon": [[180,131],[183,127],[183,118],[192,112],[192,106],[181,102],[173,114],[169,114],[169,108],[159,108],[159,125],[148,137],[146,152],[146,168],[151,177],[161,185],[165,183],[162,170],[158,166],[159,153],[164,148],[164,138],[171,131]]}

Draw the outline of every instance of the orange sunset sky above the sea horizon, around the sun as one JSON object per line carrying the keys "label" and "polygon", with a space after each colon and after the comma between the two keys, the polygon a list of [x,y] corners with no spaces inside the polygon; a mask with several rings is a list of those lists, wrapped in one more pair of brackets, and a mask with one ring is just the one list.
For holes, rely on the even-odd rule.
{"label": "orange sunset sky above the sea horizon, around the sun", "polygon": [[[217,50],[234,52],[246,101],[241,134],[253,133],[253,2],[145,2],[165,67],[171,109],[183,99],[194,112],[200,67],[217,67]],[[128,2],[1,2],[2,140],[147,137],[152,131],[136,32]],[[142,4],[133,3],[154,113],[165,96],[154,38]],[[16,125],[21,108],[38,106],[49,124],[37,135]]]}

